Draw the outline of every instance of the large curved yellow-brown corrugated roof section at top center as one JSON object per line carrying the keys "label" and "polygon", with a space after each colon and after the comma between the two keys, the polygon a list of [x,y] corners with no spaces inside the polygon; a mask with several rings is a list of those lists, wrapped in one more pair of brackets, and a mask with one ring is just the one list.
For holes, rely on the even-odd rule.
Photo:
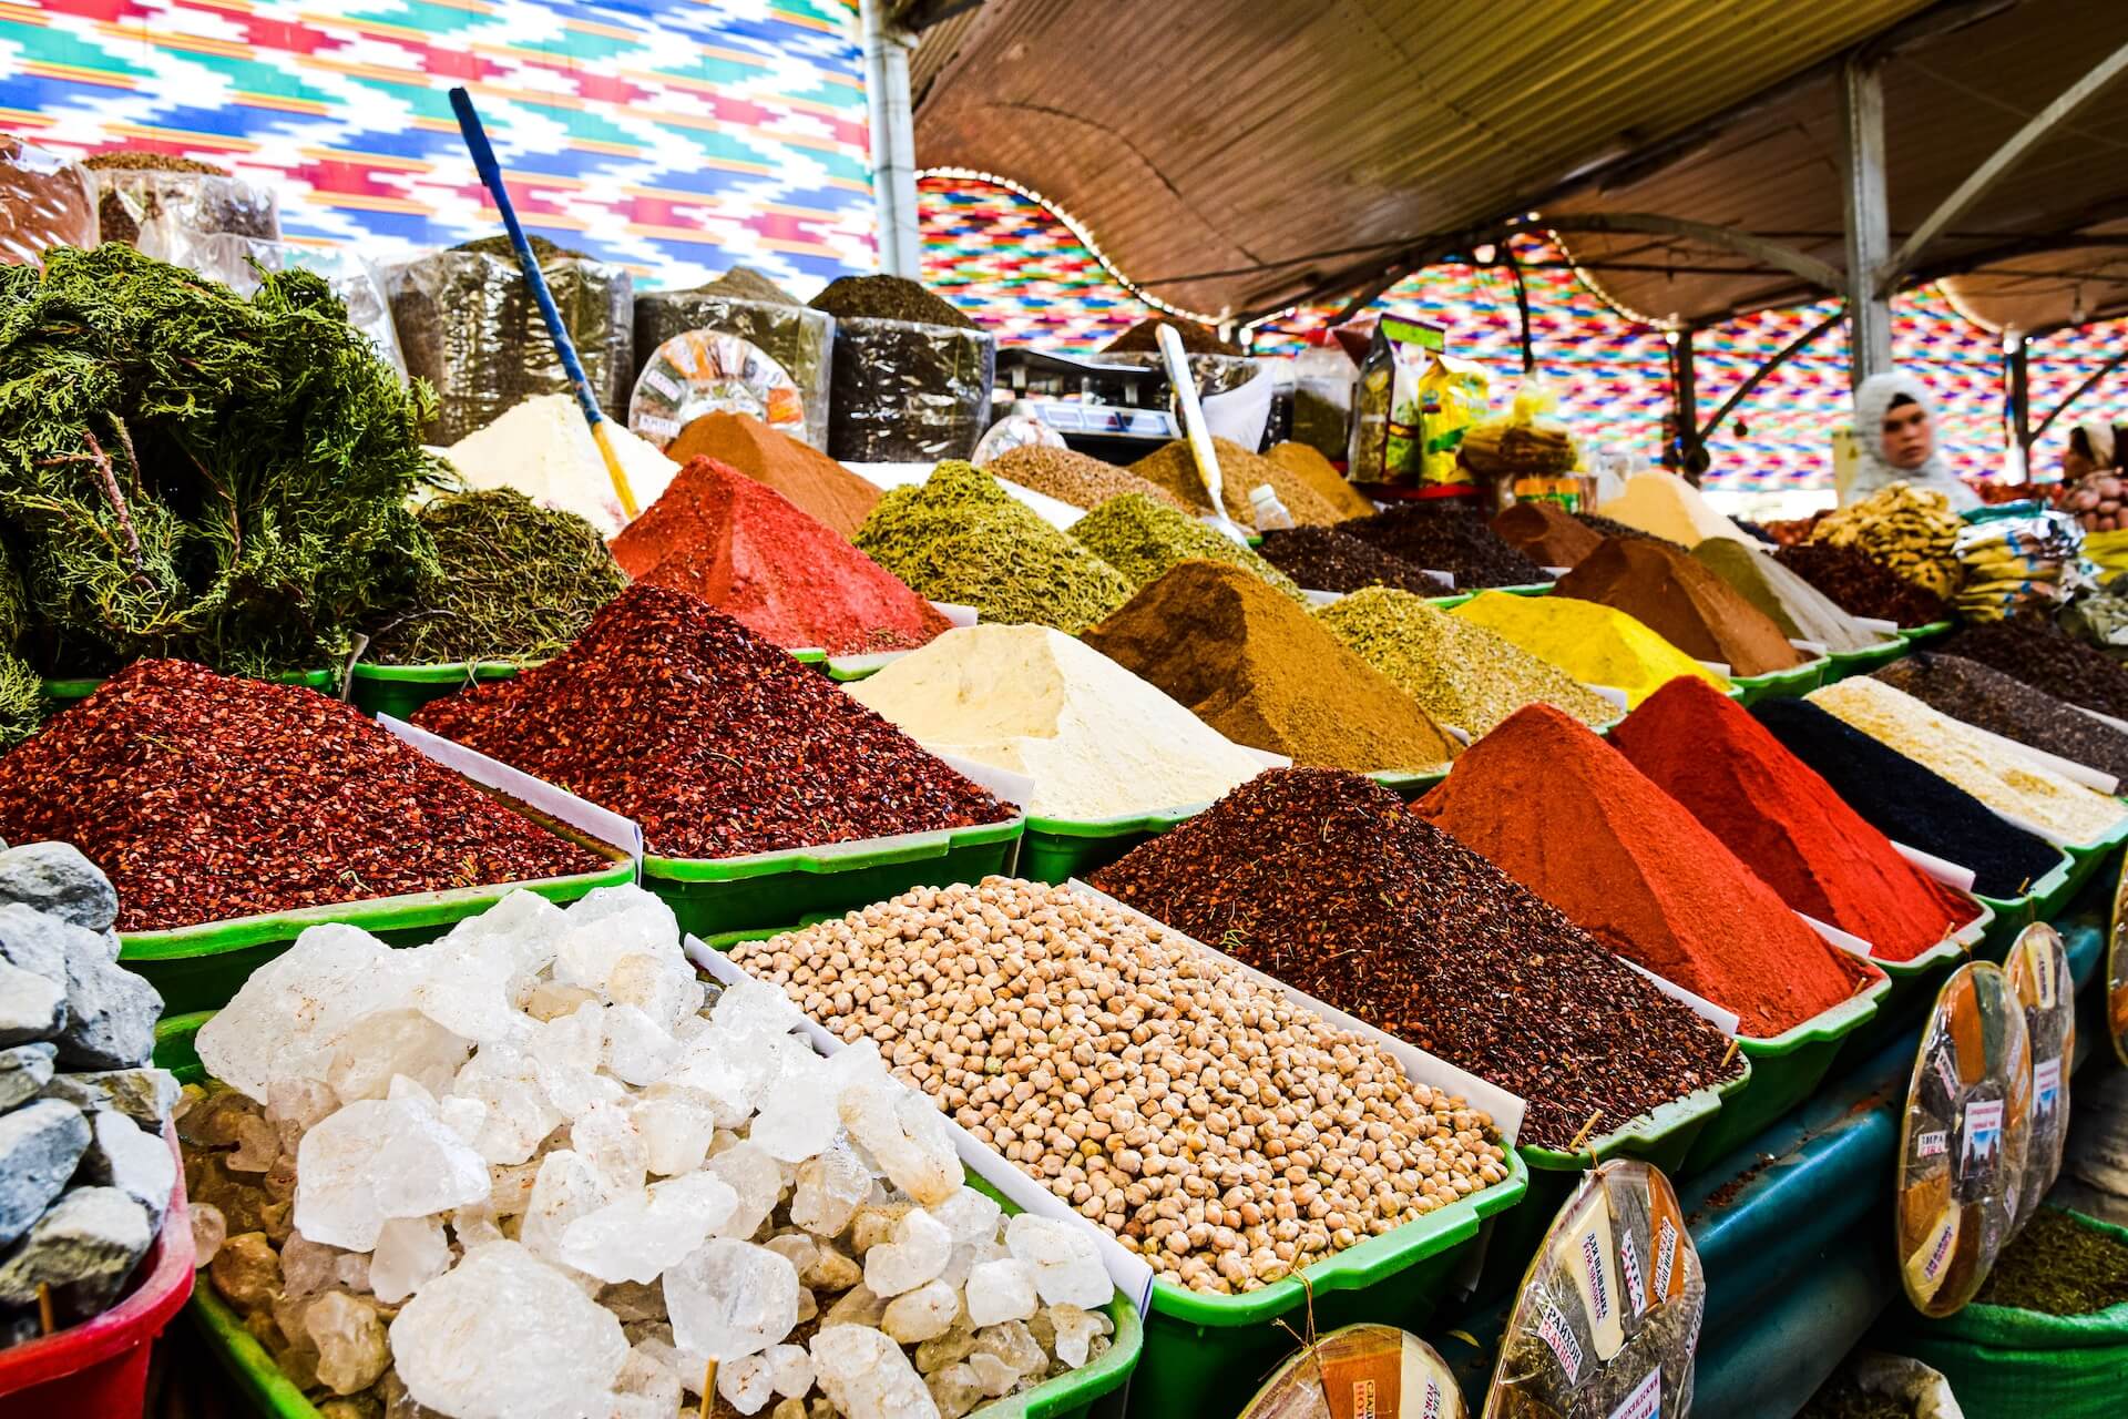
{"label": "large curved yellow-brown corrugated roof section at top center", "polygon": [[1258,308],[1377,245],[1498,217],[1919,9],[990,0],[919,45],[917,160],[1041,191],[1164,300]]}

